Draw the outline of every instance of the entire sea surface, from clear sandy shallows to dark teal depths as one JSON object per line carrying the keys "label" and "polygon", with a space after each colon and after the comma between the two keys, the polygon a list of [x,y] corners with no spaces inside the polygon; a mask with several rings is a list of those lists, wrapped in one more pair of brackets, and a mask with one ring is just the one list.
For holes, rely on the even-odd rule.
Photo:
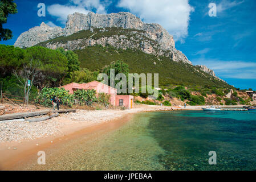
{"label": "entire sea surface, from clear sandy shallows to dark teal depths", "polygon": [[[74,143],[30,169],[255,170],[256,112],[141,113],[118,130]],[[209,151],[217,152],[217,165],[209,165]]]}

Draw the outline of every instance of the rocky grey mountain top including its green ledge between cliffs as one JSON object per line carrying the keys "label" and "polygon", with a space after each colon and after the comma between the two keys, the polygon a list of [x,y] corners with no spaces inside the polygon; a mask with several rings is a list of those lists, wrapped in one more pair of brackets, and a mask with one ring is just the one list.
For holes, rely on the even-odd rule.
{"label": "rocky grey mountain top including its green ledge between cliffs", "polygon": [[[144,23],[131,13],[95,14],[74,13],[68,15],[66,27],[39,27],[23,32],[15,47],[62,47],[72,51],[90,46],[112,46],[117,49],[137,49],[156,57],[168,57],[177,63],[192,65],[188,58],[175,48],[173,36],[156,23]],[[157,58],[159,59],[159,58]],[[160,59],[159,59],[160,60]],[[214,71],[199,66],[210,76],[218,78]]]}

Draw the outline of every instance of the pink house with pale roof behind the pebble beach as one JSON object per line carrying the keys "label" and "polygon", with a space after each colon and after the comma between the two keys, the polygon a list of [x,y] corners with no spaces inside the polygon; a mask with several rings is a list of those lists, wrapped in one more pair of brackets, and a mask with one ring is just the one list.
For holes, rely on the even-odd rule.
{"label": "pink house with pale roof behind the pebble beach", "polygon": [[[125,106],[128,109],[133,107],[133,96],[128,95],[117,95],[117,90],[112,88],[111,86],[105,85],[99,81],[88,82],[87,84],[76,84],[71,83],[64,86],[60,86],[60,88],[64,88],[65,90],[69,90],[70,94],[73,94],[75,90],[96,90],[96,93],[107,93],[110,95],[110,104],[113,106]],[[97,96],[97,95],[96,95]]]}

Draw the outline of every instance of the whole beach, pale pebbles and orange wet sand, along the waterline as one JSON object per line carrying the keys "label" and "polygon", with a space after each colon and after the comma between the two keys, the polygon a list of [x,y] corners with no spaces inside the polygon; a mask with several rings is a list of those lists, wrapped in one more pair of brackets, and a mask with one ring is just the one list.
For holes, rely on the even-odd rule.
{"label": "whole beach, pale pebbles and orange wet sand, along the waterline", "polygon": [[[129,121],[132,114],[147,111],[180,110],[183,107],[137,105],[130,110],[77,110],[42,122],[0,123],[0,169],[17,168],[18,163],[37,152],[79,135],[108,132]],[[189,109],[189,108],[187,108]],[[196,109],[196,108],[194,108]]]}

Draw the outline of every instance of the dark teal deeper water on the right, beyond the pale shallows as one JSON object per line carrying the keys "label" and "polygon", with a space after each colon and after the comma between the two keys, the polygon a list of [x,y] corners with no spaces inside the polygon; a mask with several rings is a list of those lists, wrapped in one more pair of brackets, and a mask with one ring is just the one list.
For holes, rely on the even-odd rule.
{"label": "dark teal deeper water on the right, beyond the pale shallows", "polygon": [[[174,170],[255,170],[255,111],[157,113],[148,125],[165,154],[159,161]],[[217,165],[209,165],[216,151]]]}

